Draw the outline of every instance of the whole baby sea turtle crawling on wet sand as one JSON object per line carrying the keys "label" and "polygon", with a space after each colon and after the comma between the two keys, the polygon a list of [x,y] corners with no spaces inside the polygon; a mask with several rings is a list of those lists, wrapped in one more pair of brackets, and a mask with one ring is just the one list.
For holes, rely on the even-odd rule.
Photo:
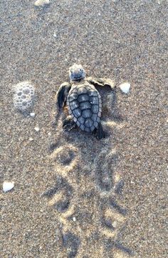
{"label": "whole baby sea turtle crawling on wet sand", "polygon": [[69,69],[70,83],[64,82],[58,89],[57,102],[59,110],[68,106],[69,116],[63,121],[63,128],[72,129],[79,126],[85,132],[93,132],[98,139],[105,137],[100,122],[102,113],[101,96],[95,86],[110,86],[110,79],[85,76],[85,69],[74,64]]}

